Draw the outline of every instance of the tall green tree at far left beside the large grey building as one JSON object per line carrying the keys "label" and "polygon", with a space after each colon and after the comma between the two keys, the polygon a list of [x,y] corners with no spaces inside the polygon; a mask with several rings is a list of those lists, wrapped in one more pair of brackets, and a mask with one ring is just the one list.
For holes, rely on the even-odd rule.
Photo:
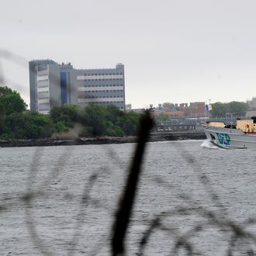
{"label": "tall green tree at far left beside the large grey building", "polygon": [[26,110],[26,102],[21,98],[19,92],[5,86],[0,87],[0,104],[4,107],[6,116],[14,112],[23,112]]}

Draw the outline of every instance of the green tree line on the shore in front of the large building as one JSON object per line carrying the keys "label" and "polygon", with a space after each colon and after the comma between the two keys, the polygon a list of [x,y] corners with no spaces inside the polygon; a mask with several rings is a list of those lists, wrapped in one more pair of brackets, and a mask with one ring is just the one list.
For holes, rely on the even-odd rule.
{"label": "green tree line on the shore in front of the large building", "polygon": [[140,114],[126,113],[116,106],[63,105],[54,107],[48,115],[26,108],[19,92],[0,87],[0,139],[49,138],[68,133],[76,123],[80,125],[80,137],[133,136],[140,120]]}

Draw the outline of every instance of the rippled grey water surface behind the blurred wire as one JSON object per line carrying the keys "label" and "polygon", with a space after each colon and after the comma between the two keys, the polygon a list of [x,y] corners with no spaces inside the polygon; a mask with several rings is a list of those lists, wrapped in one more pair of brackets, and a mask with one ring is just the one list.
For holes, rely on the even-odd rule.
{"label": "rippled grey water surface behind the blurred wire", "polygon": [[[255,218],[256,150],[202,143],[148,144],[127,255],[139,252],[139,241],[156,216],[162,226],[151,235],[145,255],[171,254],[178,237],[199,223],[206,225],[185,237],[195,251],[226,255],[232,232],[209,225],[213,215],[201,213],[210,211],[240,227]],[[0,148],[0,255],[109,255],[112,218],[134,147]],[[32,196],[24,199],[26,192]],[[181,207],[187,211],[177,214]],[[256,235],[254,223],[246,230]],[[251,240],[237,244],[236,255],[254,248]]]}

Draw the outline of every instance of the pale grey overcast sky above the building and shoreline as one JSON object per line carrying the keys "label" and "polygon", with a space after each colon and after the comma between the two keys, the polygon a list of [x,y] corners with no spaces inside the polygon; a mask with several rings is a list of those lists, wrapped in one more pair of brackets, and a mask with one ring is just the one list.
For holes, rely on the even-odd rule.
{"label": "pale grey overcast sky above the building and shoreline", "polygon": [[[245,101],[256,95],[255,13],[255,0],[1,0],[0,48],[75,68],[122,62],[133,108]],[[0,61],[29,102],[28,64]]]}

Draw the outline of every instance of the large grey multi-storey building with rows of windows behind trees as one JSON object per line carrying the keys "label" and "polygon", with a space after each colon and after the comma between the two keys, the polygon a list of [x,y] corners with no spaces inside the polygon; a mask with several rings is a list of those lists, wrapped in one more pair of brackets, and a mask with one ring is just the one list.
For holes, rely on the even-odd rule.
{"label": "large grey multi-storey building with rows of windows behind trees", "polygon": [[114,105],[125,109],[124,66],[74,69],[71,63],[29,61],[30,110],[49,113],[54,106]]}

